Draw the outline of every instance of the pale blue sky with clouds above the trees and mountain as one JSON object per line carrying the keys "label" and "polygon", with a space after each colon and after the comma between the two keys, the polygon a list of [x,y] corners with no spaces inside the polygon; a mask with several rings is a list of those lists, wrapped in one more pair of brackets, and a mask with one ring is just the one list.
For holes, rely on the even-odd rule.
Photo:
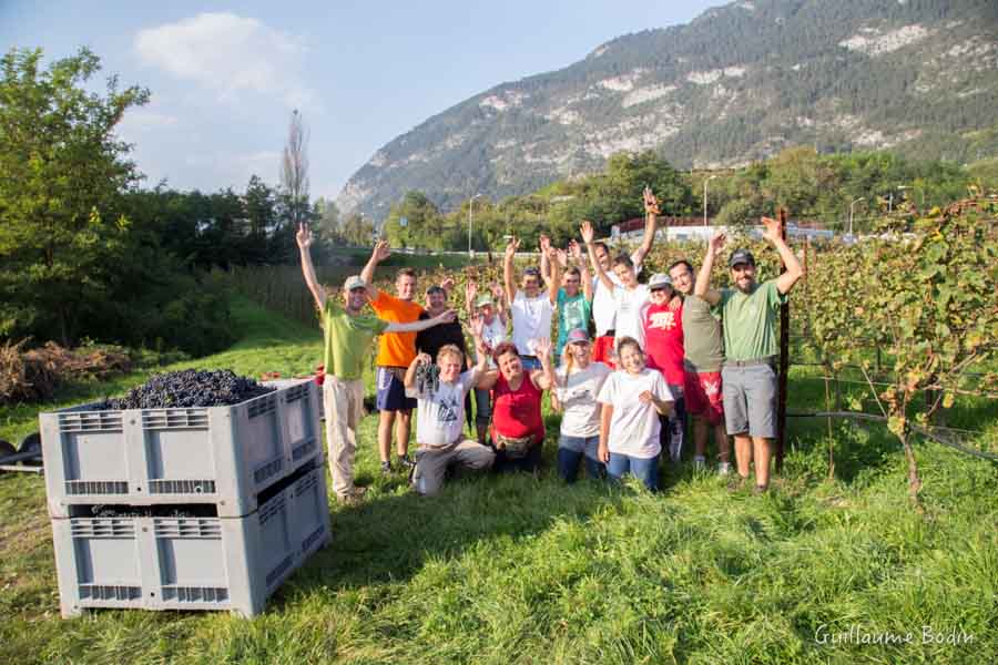
{"label": "pale blue sky with clouds above the trees and mountain", "polygon": [[313,198],[374,153],[503,82],[568,66],[630,32],[686,23],[723,0],[0,0],[0,47],[45,62],[90,48],[103,78],[151,91],[119,134],[146,186],[279,181],[292,111],[308,129]]}

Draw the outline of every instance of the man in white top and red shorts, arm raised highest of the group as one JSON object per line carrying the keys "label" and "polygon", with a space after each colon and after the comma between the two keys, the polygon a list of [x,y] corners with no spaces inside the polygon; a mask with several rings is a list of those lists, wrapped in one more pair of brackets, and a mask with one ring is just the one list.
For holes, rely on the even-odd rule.
{"label": "man in white top and red shorts, arm raised highest of the group", "polygon": [[[644,190],[644,235],[641,237],[641,245],[631,256],[631,265],[634,275],[641,274],[641,264],[644,257],[651,252],[652,244],[655,242],[656,215],[659,214],[659,202],[652,194],[650,188]],[[610,249],[605,243],[592,243],[592,249],[595,254],[597,262],[602,266],[603,272],[610,278],[614,286],[623,286],[617,273],[613,269],[613,259],[610,256]],[[593,268],[595,272],[595,268]],[[613,367],[614,337],[617,337],[617,300],[613,298],[613,289],[603,285],[599,275],[592,276],[592,318],[595,323],[597,338],[592,345],[592,359],[597,362],[605,362]]]}

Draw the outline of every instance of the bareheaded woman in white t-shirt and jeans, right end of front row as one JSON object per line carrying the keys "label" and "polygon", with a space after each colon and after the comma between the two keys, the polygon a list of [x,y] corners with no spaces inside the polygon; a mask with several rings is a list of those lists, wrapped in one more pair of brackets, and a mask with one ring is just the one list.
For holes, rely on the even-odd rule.
{"label": "bareheaded woman in white t-shirt and jeans, right end of front row", "polygon": [[622,369],[610,375],[597,397],[603,406],[599,456],[610,478],[630,473],[654,491],[662,452],[659,415],[672,412],[672,393],[662,374],[644,366],[638,340],[621,338],[617,354]]}

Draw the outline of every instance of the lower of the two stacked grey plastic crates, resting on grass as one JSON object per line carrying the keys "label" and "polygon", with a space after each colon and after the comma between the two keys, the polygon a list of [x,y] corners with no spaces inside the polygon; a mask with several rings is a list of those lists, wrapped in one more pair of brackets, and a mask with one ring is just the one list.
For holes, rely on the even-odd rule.
{"label": "lower of the two stacked grey plastic crates, resting on grass", "polygon": [[243,518],[52,519],[63,617],[86,608],[243,616],[330,540],[322,464]]}

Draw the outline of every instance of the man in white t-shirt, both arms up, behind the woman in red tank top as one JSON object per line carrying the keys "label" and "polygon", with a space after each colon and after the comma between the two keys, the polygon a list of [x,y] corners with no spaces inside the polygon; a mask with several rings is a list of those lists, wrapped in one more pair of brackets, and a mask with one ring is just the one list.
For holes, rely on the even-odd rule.
{"label": "man in white t-shirt, both arms up, behind the woman in red tank top", "polygon": [[547,293],[541,290],[540,270],[532,267],[523,270],[521,288],[518,289],[512,262],[519,247],[519,238],[510,238],[502,260],[502,277],[506,286],[506,299],[510,304],[512,314],[512,341],[517,346],[523,369],[529,372],[541,369],[536,345],[537,340],[551,337],[551,315],[558,303],[558,284],[561,280],[561,272],[558,258],[551,249],[549,259],[552,264],[552,277]]}

